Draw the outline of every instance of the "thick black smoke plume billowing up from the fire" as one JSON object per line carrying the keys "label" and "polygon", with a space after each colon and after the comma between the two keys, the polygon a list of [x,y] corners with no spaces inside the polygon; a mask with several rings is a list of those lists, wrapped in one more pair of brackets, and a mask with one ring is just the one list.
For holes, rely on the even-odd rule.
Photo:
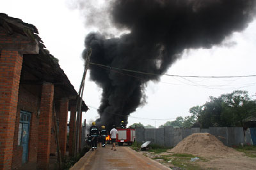
{"label": "thick black smoke plume billowing up from the fire", "polygon": [[[91,62],[163,74],[184,49],[211,48],[246,28],[255,14],[255,0],[122,0],[109,9],[115,27],[131,33],[111,39],[88,34],[85,46],[93,49]],[[99,124],[127,122],[129,114],[145,104],[147,82],[159,80],[120,72],[90,66],[90,78],[103,90]]]}

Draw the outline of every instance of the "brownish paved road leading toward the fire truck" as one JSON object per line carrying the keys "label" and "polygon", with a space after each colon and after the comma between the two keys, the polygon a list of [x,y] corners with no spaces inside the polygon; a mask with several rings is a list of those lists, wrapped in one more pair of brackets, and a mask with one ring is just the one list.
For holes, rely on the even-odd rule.
{"label": "brownish paved road leading toward the fire truck", "polygon": [[135,152],[127,146],[116,147],[116,151],[110,150],[110,146],[106,148],[98,148],[90,150],[79,162],[77,162],[71,170],[77,169],[170,169],[154,160],[151,160],[138,152]]}

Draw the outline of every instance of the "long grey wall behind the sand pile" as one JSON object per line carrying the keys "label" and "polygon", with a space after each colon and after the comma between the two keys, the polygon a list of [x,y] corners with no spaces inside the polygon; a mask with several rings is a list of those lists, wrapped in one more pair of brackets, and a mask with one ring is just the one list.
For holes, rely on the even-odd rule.
{"label": "long grey wall behind the sand pile", "polygon": [[240,145],[240,143],[253,145],[250,130],[247,129],[244,136],[242,127],[210,127],[209,129],[173,127],[144,129],[138,127],[136,128],[136,141],[151,141],[153,144],[174,147],[193,133],[206,132],[216,136],[226,146]]}

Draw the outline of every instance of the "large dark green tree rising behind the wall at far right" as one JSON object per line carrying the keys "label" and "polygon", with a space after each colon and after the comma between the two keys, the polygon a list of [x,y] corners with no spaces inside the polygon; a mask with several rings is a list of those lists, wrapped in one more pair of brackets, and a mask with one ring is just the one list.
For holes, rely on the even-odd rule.
{"label": "large dark green tree rising behind the wall at far right", "polygon": [[210,96],[203,106],[189,110],[203,128],[209,127],[243,127],[244,119],[255,117],[256,102],[248,92],[236,90],[220,97]]}

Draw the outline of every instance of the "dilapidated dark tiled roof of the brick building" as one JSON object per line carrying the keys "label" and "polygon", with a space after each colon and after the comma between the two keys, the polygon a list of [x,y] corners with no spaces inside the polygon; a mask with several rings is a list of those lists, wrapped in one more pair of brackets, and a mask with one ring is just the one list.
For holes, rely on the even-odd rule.
{"label": "dilapidated dark tiled roof of the brick building", "polygon": [[[38,36],[38,30],[34,25],[22,22],[19,18],[9,17],[4,13],[0,13],[0,30],[4,30],[11,37],[26,37],[31,43],[38,44],[38,54],[23,55],[20,85],[33,86],[33,89],[36,89],[33,93],[40,96],[42,83],[53,83],[54,99],[68,98],[70,104],[76,104],[77,92],[74,86],[58,64],[58,59],[45,49],[44,42]],[[0,43],[0,50],[3,48],[3,43]],[[83,101],[82,111],[87,110],[88,107]]]}

